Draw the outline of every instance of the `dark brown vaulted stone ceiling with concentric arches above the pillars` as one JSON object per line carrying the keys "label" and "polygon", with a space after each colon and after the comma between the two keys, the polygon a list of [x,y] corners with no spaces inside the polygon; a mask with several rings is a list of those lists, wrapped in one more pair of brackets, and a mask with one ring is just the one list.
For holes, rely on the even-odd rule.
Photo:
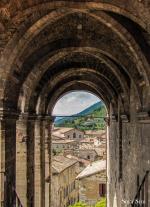
{"label": "dark brown vaulted stone ceiling with concentric arches above the pillars", "polygon": [[131,86],[149,107],[148,1],[4,0],[0,17],[1,107],[48,113],[85,89],[128,112]]}

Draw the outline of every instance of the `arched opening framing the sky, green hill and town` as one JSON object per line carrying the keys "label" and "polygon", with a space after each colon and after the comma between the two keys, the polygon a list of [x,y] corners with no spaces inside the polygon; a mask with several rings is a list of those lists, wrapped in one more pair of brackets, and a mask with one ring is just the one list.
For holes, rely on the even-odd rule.
{"label": "arched opening framing the sky, green hill and town", "polygon": [[98,205],[107,186],[105,104],[81,88],[58,97],[52,114],[51,207]]}

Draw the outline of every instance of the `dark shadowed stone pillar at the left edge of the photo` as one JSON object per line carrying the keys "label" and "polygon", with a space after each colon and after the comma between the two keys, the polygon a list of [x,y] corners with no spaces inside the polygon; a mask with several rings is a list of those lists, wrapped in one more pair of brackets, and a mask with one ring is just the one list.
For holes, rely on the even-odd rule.
{"label": "dark shadowed stone pillar at the left edge of the photo", "polygon": [[0,206],[15,204],[16,113],[0,112]]}

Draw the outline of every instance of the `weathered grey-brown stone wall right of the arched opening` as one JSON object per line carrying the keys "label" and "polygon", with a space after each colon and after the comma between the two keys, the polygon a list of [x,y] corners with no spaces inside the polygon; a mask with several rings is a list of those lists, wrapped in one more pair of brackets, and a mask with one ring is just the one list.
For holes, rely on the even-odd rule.
{"label": "weathered grey-brown stone wall right of the arched opening", "polygon": [[[146,171],[150,170],[150,122],[144,117],[138,119],[133,88],[130,99],[132,103],[130,106],[131,116],[129,120],[121,120],[121,137],[118,120],[111,120],[108,129],[109,207],[126,206],[130,201],[133,201],[137,193],[137,176],[139,176],[139,184],[141,184]],[[122,139],[121,156],[119,152],[120,138]],[[120,165],[122,165],[121,168]]]}

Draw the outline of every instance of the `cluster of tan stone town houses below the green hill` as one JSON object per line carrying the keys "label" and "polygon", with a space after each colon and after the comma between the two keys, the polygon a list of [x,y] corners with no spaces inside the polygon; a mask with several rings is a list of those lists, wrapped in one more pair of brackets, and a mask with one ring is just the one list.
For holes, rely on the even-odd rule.
{"label": "cluster of tan stone town houses below the green hill", "polygon": [[52,207],[106,196],[106,131],[53,127]]}

